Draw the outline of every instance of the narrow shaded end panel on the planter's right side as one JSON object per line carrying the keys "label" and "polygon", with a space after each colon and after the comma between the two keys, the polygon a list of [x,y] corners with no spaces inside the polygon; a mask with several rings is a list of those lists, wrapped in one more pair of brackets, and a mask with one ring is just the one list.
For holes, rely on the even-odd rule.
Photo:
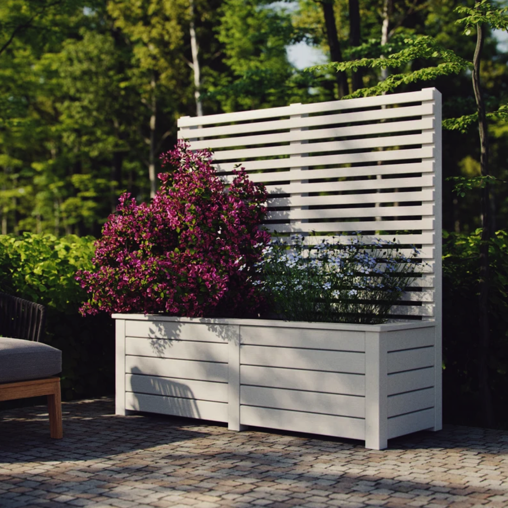
{"label": "narrow shaded end panel on the planter's right side", "polygon": [[388,334],[388,438],[434,426],[434,326]]}

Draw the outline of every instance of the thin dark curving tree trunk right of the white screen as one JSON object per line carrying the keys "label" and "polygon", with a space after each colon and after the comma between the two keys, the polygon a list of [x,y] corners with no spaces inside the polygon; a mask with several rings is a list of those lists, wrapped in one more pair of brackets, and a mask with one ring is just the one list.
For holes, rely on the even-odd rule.
{"label": "thin dark curving tree trunk right of the white screen", "polygon": [[[487,117],[485,104],[480,86],[480,60],[484,43],[484,29],[482,24],[477,24],[477,45],[474,50],[472,82],[474,98],[478,109],[478,130],[480,134],[480,169],[482,176],[489,175],[489,139],[487,132]],[[492,396],[489,386],[489,349],[490,349],[490,325],[489,325],[489,242],[491,230],[490,216],[490,188],[487,183],[481,189],[481,212],[482,212],[482,238],[480,243],[480,280],[479,280],[479,324],[480,344],[478,356],[478,377],[480,398],[482,400],[482,414],[484,425],[491,428],[494,424],[494,411]]]}

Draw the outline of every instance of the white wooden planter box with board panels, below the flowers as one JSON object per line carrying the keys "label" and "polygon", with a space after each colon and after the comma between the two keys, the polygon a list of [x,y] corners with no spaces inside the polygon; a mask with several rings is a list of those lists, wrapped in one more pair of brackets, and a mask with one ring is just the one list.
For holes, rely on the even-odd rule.
{"label": "white wooden planter box with board panels, below the flowers", "polygon": [[116,413],[360,439],[441,428],[433,321],[385,325],[114,314]]}

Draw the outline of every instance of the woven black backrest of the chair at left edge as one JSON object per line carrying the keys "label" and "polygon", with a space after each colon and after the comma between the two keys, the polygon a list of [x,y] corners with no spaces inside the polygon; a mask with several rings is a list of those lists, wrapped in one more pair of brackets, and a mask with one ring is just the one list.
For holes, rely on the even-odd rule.
{"label": "woven black backrest of the chair at left edge", "polygon": [[0,335],[39,341],[45,324],[44,305],[0,293]]}

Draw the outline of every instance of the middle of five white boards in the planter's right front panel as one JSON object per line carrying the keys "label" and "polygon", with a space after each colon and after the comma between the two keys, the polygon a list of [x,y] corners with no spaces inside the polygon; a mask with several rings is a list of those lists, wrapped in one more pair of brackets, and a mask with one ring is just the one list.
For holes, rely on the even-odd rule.
{"label": "middle of five white boards in the planter's right front panel", "polygon": [[316,370],[240,366],[242,385],[365,396],[365,375]]}

